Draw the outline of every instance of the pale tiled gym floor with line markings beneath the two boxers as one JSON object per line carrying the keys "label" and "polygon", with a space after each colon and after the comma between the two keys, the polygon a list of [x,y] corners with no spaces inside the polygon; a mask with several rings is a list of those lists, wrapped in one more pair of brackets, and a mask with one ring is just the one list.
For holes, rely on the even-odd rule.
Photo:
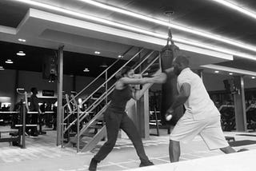
{"label": "pale tiled gym floor with line markings beneath the two boxers", "polygon": [[[154,131],[154,130],[152,130]],[[256,141],[256,133],[247,133],[254,136],[241,136],[240,133],[228,132],[227,136],[239,140]],[[166,130],[162,130],[160,137],[150,136],[143,140],[146,154],[155,165],[170,163],[168,146],[169,139]],[[100,145],[89,153],[76,153],[76,149],[62,149],[56,146],[56,132],[47,131],[39,137],[26,137],[26,149],[10,146],[9,143],[0,143],[0,170],[21,171],[82,171],[87,170],[91,157],[97,153]],[[101,142],[101,144],[103,141]],[[190,144],[182,144],[181,161],[190,161],[202,157],[225,155],[219,150],[209,151],[201,137],[196,137]],[[256,144],[234,147],[234,149],[256,149]],[[125,170],[138,168],[138,156],[131,141],[126,138],[118,139],[114,150],[98,165],[98,170]]]}

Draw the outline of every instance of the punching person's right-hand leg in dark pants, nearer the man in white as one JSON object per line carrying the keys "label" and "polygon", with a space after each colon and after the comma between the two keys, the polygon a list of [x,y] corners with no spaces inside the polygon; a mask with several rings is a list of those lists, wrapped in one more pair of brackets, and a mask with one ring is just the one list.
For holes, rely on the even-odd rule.
{"label": "punching person's right-hand leg in dark pants, nearer the man in white", "polygon": [[140,166],[153,165],[153,163],[149,161],[149,158],[146,156],[145,149],[142,144],[142,138],[139,135],[134,122],[131,121],[130,117],[128,117],[126,113],[122,116],[120,128],[127,134],[130,141],[133,142],[138,157],[142,161]]}

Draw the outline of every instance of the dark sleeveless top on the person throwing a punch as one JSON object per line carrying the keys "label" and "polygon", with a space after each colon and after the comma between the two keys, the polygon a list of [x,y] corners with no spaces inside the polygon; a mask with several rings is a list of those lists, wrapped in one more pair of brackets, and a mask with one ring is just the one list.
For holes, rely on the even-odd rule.
{"label": "dark sleeveless top on the person throwing a punch", "polygon": [[130,86],[127,85],[124,89],[114,89],[112,93],[110,108],[118,111],[125,111],[126,102],[132,97]]}

